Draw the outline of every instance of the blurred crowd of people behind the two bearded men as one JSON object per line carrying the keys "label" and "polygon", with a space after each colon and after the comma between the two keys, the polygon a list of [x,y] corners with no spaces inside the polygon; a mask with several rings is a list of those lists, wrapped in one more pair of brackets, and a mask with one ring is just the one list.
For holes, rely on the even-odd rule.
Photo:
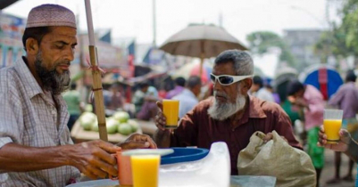
{"label": "blurred crowd of people behind the two bearded men", "polygon": [[[358,112],[358,89],[355,85],[353,71],[346,73],[346,84],[338,89],[329,101],[323,99],[322,93],[312,85],[304,85],[298,80],[292,80],[287,84],[286,99],[281,100],[279,93],[274,92],[274,80],[254,76],[253,86],[249,94],[266,102],[279,104],[291,119],[296,138],[304,145],[304,149],[312,158],[313,166],[316,168],[318,181],[321,170],[324,167],[324,149],[317,146],[319,126],[323,123],[323,110],[326,108],[339,108],[345,110],[344,126],[357,138],[356,131],[358,122],[355,114]],[[131,99],[127,98],[125,89],[131,89]],[[164,89],[166,88],[166,89]],[[106,112],[115,110],[128,111],[131,118],[140,120],[154,120],[158,108],[157,101],[163,99],[179,100],[179,118],[182,118],[196,104],[212,96],[212,83],[203,85],[200,77],[191,76],[187,79],[177,77],[167,81],[162,89],[158,89],[151,81],[137,83],[133,87],[119,83],[104,85],[104,105]],[[64,93],[63,97],[68,103],[71,118],[69,128],[74,125],[79,115],[84,110],[84,102],[80,101],[76,84],[71,85],[71,90]],[[126,103],[130,101],[130,103]],[[355,101],[355,102],[354,102]],[[92,99],[93,102],[93,99]],[[129,106],[129,107],[126,107]],[[93,103],[94,107],[94,103]],[[96,109],[94,109],[96,110]],[[110,114],[109,114],[110,115]],[[350,161],[347,174],[340,177],[341,154],[335,155],[335,173],[327,183],[339,183],[340,180],[353,181],[354,161]]]}

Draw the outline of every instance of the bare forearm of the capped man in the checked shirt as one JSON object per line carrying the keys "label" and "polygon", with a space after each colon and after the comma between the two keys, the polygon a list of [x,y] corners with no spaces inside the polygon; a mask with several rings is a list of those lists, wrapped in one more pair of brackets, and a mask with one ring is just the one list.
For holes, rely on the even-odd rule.
{"label": "bare forearm of the capped man in the checked shirt", "polygon": [[70,165],[67,147],[69,145],[33,148],[7,143],[0,149],[0,171],[27,172]]}

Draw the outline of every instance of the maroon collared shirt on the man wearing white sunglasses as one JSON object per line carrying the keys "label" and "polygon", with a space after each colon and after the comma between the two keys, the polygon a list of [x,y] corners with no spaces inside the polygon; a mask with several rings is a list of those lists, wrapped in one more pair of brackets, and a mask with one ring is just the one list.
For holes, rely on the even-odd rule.
{"label": "maroon collared shirt on the man wearing white sunglasses", "polygon": [[180,120],[178,129],[171,134],[171,147],[197,146],[210,149],[212,142],[226,142],[231,159],[231,175],[237,175],[238,153],[246,148],[251,135],[256,131],[267,134],[275,130],[291,146],[302,149],[294,137],[290,119],[278,104],[249,96],[249,104],[241,119],[219,121],[208,115],[207,110],[212,101],[213,98],[209,98],[199,102]]}

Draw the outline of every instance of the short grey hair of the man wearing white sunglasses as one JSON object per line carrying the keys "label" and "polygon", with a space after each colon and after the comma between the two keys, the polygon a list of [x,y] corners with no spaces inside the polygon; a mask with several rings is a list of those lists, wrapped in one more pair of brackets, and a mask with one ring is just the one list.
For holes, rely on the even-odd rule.
{"label": "short grey hair of the man wearing white sunglasses", "polygon": [[237,49],[227,50],[216,57],[214,65],[228,62],[234,63],[237,76],[254,75],[254,61],[250,54]]}

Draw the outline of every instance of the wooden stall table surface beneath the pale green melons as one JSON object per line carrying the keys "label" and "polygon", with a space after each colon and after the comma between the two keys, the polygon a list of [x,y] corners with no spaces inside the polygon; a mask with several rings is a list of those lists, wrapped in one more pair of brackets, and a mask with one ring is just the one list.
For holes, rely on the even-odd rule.
{"label": "wooden stall table surface beneath the pale green melons", "polygon": [[[139,127],[136,133],[142,134],[142,129]],[[129,137],[129,135],[123,135],[119,133],[108,134],[108,142],[112,142],[112,143],[124,142]],[[79,125],[79,121],[76,121],[75,125],[72,127],[71,130],[71,137],[73,139],[73,142],[79,143],[79,142],[98,140],[99,134],[98,132],[85,131],[83,127]]]}

